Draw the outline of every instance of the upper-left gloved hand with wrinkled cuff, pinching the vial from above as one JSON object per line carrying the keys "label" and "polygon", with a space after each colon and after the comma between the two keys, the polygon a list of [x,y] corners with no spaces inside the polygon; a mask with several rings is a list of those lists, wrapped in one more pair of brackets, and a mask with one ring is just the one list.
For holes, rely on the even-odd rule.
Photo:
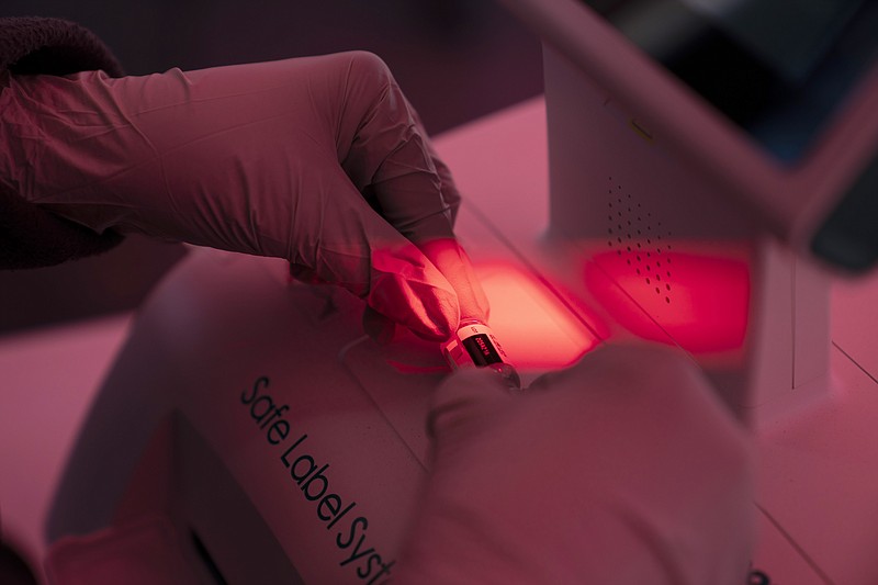
{"label": "upper-left gloved hand with wrinkled cuff, pinching the vial from above", "polygon": [[374,55],[21,77],[3,101],[0,177],[65,217],[286,258],[431,339],[487,317],[460,195]]}

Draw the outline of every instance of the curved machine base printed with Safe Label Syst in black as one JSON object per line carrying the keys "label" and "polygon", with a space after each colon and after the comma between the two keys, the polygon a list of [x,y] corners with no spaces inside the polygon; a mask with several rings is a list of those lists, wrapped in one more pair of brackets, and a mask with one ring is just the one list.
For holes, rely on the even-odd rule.
{"label": "curved machine base printed with Safe Label Syst in black", "polygon": [[[193,254],[94,404],[50,537],[159,517],[203,578],[386,576],[426,465],[435,376],[403,384],[370,355],[354,301],[288,282],[282,262]],[[387,385],[407,392],[386,403]]]}

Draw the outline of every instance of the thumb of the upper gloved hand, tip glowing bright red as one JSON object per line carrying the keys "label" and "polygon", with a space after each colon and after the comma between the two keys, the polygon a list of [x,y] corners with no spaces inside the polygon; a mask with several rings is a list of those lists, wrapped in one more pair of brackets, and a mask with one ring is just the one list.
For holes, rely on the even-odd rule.
{"label": "thumb of the upper gloved hand, tip glowing bright red", "polygon": [[283,256],[294,274],[341,285],[420,337],[448,339],[460,318],[458,295],[424,254],[363,200],[339,169],[303,185],[317,193],[292,214]]}

